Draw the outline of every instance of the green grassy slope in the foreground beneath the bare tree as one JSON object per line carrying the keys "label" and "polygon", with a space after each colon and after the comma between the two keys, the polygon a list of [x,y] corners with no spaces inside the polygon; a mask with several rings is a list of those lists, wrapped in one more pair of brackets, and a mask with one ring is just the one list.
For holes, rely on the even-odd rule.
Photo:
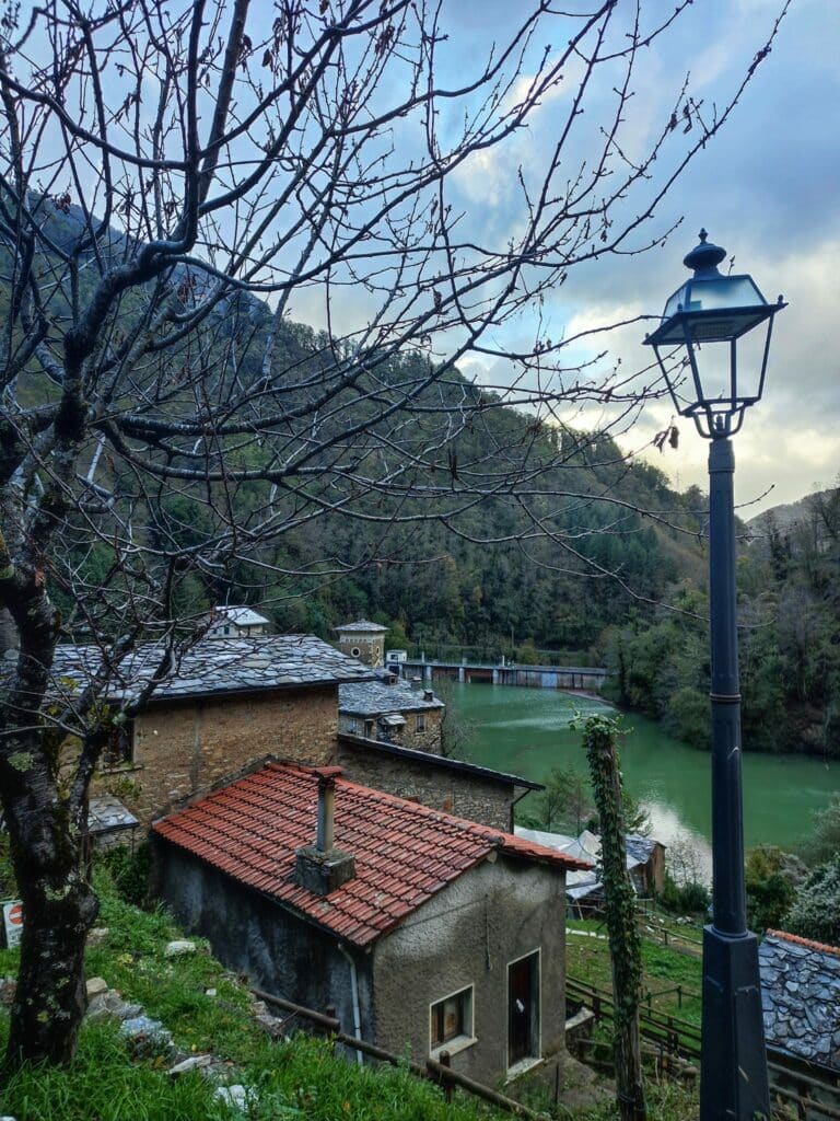
{"label": "green grassy slope in the foreground beneath the bare tree", "polygon": [[[213,1051],[231,1059],[228,1082],[254,1091],[249,1121],[489,1121],[508,1117],[466,1095],[456,1095],[447,1105],[430,1083],[402,1069],[347,1063],[335,1057],[325,1040],[298,1035],[289,1043],[269,1041],[251,1019],[248,990],[236,978],[208,953],[166,958],[166,943],[179,935],[167,916],[124,904],[104,874],[97,888],[100,923],[110,934],[105,944],[88,951],[87,975],[103,976],[125,1000],[141,1003],[172,1031],[183,1050]],[[577,954],[577,947],[572,949]],[[600,956],[600,949],[594,954]],[[0,975],[16,970],[17,951],[0,951]],[[215,989],[215,997],[207,995],[207,989]],[[0,1047],[7,1031],[8,1013],[2,1010]],[[697,1113],[694,1100],[680,1087],[652,1085],[650,1093],[651,1121],[687,1121]],[[0,1087],[0,1115],[4,1113],[18,1121],[242,1118],[214,1101],[213,1087],[199,1075],[172,1080],[160,1062],[130,1062],[115,1026],[101,1021],[85,1023],[78,1056],[67,1071],[25,1069]],[[560,1106],[557,1115],[612,1121],[615,1111],[607,1105],[572,1113]]]}

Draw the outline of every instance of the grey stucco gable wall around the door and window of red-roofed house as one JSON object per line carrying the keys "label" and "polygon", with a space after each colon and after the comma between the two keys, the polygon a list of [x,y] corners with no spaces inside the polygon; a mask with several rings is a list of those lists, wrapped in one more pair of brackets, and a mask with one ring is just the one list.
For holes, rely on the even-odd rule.
{"label": "grey stucco gable wall around the door and window of red-roofed house", "polygon": [[422,1060],[429,1006],[474,985],[476,1043],[455,1069],[493,1084],[507,1071],[507,965],[541,949],[541,1050],[563,1048],[564,877],[501,856],[459,877],[377,944],[373,963],[377,1043]]}

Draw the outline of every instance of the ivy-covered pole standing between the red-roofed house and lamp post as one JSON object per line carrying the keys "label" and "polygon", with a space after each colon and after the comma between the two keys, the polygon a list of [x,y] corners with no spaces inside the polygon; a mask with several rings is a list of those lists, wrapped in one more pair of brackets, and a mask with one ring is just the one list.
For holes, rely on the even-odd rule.
{"label": "ivy-covered pole standing between the red-roofed house and lamp post", "polygon": [[595,805],[600,819],[600,863],[613,965],[615,1004],[613,1053],[618,1113],[622,1121],[647,1117],[642,1085],[638,1006],[642,997],[642,946],[636,927],[636,902],[627,872],[622,812],[619,730],[615,720],[590,716],[584,724]]}

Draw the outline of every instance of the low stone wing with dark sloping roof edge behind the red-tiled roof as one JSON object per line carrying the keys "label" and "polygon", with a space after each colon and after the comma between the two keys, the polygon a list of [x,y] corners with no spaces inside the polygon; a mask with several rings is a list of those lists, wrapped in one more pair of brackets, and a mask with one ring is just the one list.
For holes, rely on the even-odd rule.
{"label": "low stone wing with dark sloping roof edge behind the red-tiled roof", "polygon": [[513,833],[516,803],[544,789],[519,775],[342,732],[337,762],[354,782],[507,833]]}

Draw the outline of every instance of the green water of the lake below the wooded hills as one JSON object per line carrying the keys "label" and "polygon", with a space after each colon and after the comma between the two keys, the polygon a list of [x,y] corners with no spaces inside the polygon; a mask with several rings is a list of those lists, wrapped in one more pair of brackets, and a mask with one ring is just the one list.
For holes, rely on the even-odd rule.
{"label": "green water of the lake below the wooded hills", "polygon": [[[448,683],[454,710],[472,725],[467,751],[477,763],[539,781],[552,767],[586,769],[576,713],[610,712],[606,704],[556,689]],[[451,693],[450,693],[451,689]],[[651,815],[665,844],[698,853],[708,872],[711,837],[710,756],[674,740],[634,713],[624,724],[622,771],[626,788]],[[840,760],[808,756],[744,754],[744,835],[747,846],[795,849],[811,815],[840,791]],[[528,796],[538,797],[536,793]],[[524,807],[523,807],[524,808]]]}

